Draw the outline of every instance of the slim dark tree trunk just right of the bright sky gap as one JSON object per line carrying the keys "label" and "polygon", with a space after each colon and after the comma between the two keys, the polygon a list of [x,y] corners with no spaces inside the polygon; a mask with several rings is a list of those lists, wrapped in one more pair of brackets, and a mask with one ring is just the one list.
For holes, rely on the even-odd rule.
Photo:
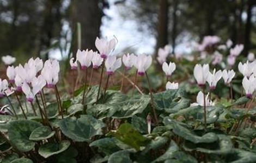
{"label": "slim dark tree trunk just right of the bright sky gap", "polygon": [[168,0],[159,0],[159,24],[156,43],[156,52],[160,47],[164,47],[168,43]]}

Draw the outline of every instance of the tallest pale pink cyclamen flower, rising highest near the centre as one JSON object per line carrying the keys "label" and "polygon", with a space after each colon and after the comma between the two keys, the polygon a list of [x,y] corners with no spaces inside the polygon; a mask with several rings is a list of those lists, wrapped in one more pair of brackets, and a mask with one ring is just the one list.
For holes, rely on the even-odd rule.
{"label": "tallest pale pink cyclamen flower, rising highest near the centre", "polygon": [[109,53],[112,52],[112,50],[115,47],[115,44],[115,39],[108,41],[107,38],[99,39],[99,37],[97,37],[95,40],[95,46],[100,52],[100,57],[105,59],[108,57]]}

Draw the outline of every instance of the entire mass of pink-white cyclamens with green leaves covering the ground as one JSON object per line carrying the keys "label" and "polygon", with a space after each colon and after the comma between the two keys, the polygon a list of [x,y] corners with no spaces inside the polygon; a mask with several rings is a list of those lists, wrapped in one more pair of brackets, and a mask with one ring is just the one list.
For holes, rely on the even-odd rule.
{"label": "entire mass of pink-white cyclamens with green leaves covering the ground", "polygon": [[[256,162],[256,61],[249,54],[234,66],[243,46],[220,41],[205,37],[198,58],[159,49],[161,78],[150,55],[119,58],[111,54],[115,39],[97,38],[99,52],[78,49],[70,59],[71,93],[59,89],[59,61],[14,67],[15,59],[3,58],[0,162]],[[121,86],[109,87],[117,72]]]}

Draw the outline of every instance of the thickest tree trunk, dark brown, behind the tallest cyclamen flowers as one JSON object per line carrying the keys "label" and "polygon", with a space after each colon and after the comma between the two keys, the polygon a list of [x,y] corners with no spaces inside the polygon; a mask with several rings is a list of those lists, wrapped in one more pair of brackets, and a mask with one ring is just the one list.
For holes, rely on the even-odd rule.
{"label": "thickest tree trunk, dark brown, behind the tallest cyclamen flowers", "polygon": [[[72,2],[72,28],[77,22],[81,23],[81,48],[95,48],[95,39],[100,35],[102,10],[99,8],[100,0],[76,0]],[[77,47],[73,49],[73,55]]]}

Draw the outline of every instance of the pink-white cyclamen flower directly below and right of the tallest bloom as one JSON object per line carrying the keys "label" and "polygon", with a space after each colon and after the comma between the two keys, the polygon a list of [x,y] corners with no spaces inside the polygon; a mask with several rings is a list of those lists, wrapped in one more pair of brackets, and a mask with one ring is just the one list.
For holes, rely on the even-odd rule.
{"label": "pink-white cyclamen flower directly below and right of the tallest bloom", "polygon": [[118,58],[115,57],[115,56],[109,56],[107,59],[106,59],[106,62],[105,62],[105,67],[107,69],[107,74],[108,75],[112,75],[114,74],[114,71],[117,70],[118,68],[120,68],[122,65],[122,61],[121,61],[121,58]]}

